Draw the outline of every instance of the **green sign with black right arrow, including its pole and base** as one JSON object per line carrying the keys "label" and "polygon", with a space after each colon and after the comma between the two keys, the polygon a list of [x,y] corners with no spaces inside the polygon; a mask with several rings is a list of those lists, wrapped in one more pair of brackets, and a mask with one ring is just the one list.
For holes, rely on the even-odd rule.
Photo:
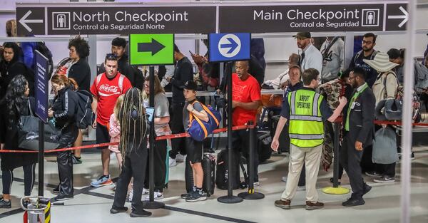
{"label": "green sign with black right arrow, including its pole and base", "polygon": [[[150,97],[149,106],[155,107],[155,68],[154,65],[170,65],[174,63],[173,34],[131,34],[129,35],[129,61],[131,65],[149,65]],[[155,189],[155,122],[150,123],[149,136],[149,201],[143,202],[146,209],[165,207],[162,202],[154,201]]]}

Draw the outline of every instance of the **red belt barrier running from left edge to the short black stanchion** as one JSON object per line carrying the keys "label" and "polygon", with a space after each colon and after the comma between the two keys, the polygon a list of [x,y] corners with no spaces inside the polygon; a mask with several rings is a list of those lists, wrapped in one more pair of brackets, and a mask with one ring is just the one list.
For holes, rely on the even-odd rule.
{"label": "red belt barrier running from left edge to the short black stanchion", "polygon": [[[254,128],[255,125],[238,125],[238,126],[234,126],[232,128],[232,130],[245,130],[245,129],[249,129],[249,128]],[[223,132],[227,132],[228,128],[218,128],[216,130],[214,130],[214,133],[223,133]],[[156,138],[156,140],[166,140],[166,139],[174,139],[174,138],[186,138],[186,137],[190,137],[189,133],[178,133],[178,134],[170,134],[170,135],[161,135],[158,136]],[[106,142],[106,143],[100,143],[100,144],[94,144],[94,145],[82,145],[82,146],[76,146],[76,147],[69,147],[69,148],[61,148],[61,149],[56,149],[56,150],[46,150],[44,151],[45,153],[47,152],[63,152],[63,151],[68,151],[68,150],[82,150],[82,149],[90,149],[90,148],[94,148],[94,147],[106,147],[109,145],[118,145],[119,142]],[[35,152],[39,152],[39,151],[32,151],[32,150],[0,150],[0,152],[19,152],[19,153],[35,153]]]}

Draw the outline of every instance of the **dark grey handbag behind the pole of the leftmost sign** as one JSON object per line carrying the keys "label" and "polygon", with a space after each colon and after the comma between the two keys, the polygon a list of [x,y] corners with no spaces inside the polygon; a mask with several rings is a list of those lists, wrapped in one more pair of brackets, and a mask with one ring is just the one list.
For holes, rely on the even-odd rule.
{"label": "dark grey handbag behind the pole of the leftmost sign", "polygon": [[[30,115],[21,115],[18,123],[18,147],[26,150],[39,151],[39,118],[34,116],[29,103]],[[44,149],[54,150],[59,147],[61,130],[54,124],[44,124]]]}

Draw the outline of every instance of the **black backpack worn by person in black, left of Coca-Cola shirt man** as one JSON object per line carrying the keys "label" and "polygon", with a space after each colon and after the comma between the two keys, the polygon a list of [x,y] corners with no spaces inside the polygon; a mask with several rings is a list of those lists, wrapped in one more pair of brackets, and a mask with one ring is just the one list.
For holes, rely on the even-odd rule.
{"label": "black backpack worn by person in black, left of Coca-Cola shirt man", "polygon": [[86,90],[76,91],[78,103],[76,111],[76,125],[79,129],[86,129],[92,125],[95,120],[95,114],[92,111],[92,95]]}

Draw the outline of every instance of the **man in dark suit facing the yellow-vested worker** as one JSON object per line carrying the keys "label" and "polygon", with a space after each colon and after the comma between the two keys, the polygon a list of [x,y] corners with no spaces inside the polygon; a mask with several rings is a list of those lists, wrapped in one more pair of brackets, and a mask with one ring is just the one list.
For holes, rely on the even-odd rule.
{"label": "man in dark suit facing the yellow-vested worker", "polygon": [[355,88],[345,113],[345,140],[340,151],[340,163],[345,168],[352,195],[343,202],[345,207],[365,204],[362,196],[372,187],[367,185],[361,175],[361,157],[365,147],[372,144],[374,133],[374,104],[376,99],[372,89],[365,82],[366,72],[363,68],[354,68],[349,82]]}

